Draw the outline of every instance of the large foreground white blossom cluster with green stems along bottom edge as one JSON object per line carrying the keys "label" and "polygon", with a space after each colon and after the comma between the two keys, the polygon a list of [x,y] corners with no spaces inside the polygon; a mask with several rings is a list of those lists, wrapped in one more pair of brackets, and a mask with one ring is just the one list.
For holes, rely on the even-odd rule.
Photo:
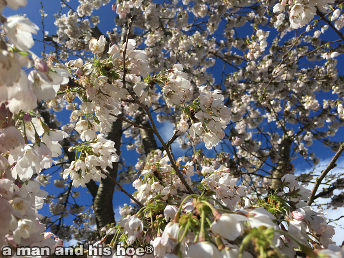
{"label": "large foreground white blossom cluster with green stems along bottom edge", "polygon": [[[294,175],[282,178],[282,191],[269,194],[264,200],[255,200],[246,194],[245,186],[236,186],[237,178],[230,175],[228,168],[215,170],[213,166],[204,166],[198,172],[203,178],[197,186],[201,196],[188,195],[179,188],[172,193],[171,185],[175,182],[168,182],[166,172],[159,168],[165,164],[163,159],[164,156],[160,161],[152,158],[153,163],[148,163],[133,183],[138,190],[136,198],[145,205],[137,213],[127,214],[115,227],[117,233],[122,232],[118,239],[125,240],[122,245],[150,243],[157,258],[177,257],[175,252],[190,258],[237,257],[241,248],[236,239],[249,237],[261,255],[270,250],[276,255],[293,257],[294,248],[307,246],[309,241],[331,248],[325,252],[318,250],[318,254],[332,252],[334,228],[327,225],[322,210],[314,211],[305,202],[309,200],[310,191],[300,185]],[[188,171],[194,173],[193,164],[181,167],[185,167],[182,172],[186,176]],[[154,227],[150,226],[152,218],[155,218]],[[206,226],[202,224],[205,218]],[[145,221],[150,224],[145,225]],[[259,241],[268,241],[268,245],[259,247]],[[244,254],[251,257],[253,253],[246,250]]]}

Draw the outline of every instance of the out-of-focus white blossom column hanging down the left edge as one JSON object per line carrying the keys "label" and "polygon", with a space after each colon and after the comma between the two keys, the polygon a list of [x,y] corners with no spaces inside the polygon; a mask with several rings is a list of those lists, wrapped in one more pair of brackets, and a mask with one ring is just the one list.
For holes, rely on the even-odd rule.
{"label": "out-of-focus white blossom column hanging down the left edge", "polygon": [[[25,4],[2,1],[1,7],[17,9]],[[10,16],[2,23],[12,45],[1,39],[0,245],[53,248],[61,246],[62,241],[52,233],[42,234],[46,227],[39,221],[37,210],[43,207],[48,193],[33,178],[52,167],[53,158],[62,152],[59,142],[67,134],[50,129],[32,110],[37,101],[54,99],[71,75],[64,69],[48,67],[29,51],[32,33],[36,34],[38,27],[28,18]],[[23,67],[31,65],[35,69],[26,74]]]}

